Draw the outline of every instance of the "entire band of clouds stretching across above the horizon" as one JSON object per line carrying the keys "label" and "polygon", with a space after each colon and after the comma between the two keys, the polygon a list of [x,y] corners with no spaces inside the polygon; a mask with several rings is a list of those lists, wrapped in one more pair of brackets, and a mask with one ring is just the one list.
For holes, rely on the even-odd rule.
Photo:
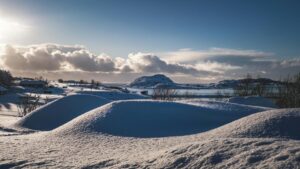
{"label": "entire band of clouds stretching across above the horizon", "polygon": [[126,79],[138,75],[165,73],[175,79],[188,81],[233,79],[247,73],[276,79],[300,70],[299,58],[280,60],[272,53],[255,50],[181,49],[156,54],[131,53],[127,57],[113,58],[105,53],[92,53],[84,46],[59,44],[2,46],[1,64],[13,73],[24,75],[54,77],[54,74],[74,75],[75,72],[82,77],[84,74],[99,74],[107,78],[111,75]]}

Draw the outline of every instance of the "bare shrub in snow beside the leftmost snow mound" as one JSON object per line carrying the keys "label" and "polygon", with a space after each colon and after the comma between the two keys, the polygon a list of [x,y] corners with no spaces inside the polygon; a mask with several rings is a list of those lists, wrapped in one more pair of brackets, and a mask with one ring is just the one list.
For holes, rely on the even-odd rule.
{"label": "bare shrub in snow beside the leftmost snow mound", "polygon": [[27,94],[21,97],[20,102],[18,103],[18,115],[23,117],[26,116],[28,113],[32,112],[33,110],[39,107],[40,96]]}

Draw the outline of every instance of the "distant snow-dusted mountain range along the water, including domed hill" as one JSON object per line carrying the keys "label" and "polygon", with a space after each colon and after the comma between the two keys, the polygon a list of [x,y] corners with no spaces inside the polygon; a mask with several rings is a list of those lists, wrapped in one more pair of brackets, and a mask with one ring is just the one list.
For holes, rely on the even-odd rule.
{"label": "distant snow-dusted mountain range along the water, including domed hill", "polygon": [[[153,76],[142,76],[131,82],[128,87],[131,88],[174,88],[174,89],[224,89],[234,88],[245,79],[237,80],[222,80],[218,83],[210,84],[179,84],[173,82],[169,77],[163,74],[156,74]],[[248,79],[247,79],[248,80]],[[279,84],[279,81],[274,81],[267,78],[250,79],[250,83],[265,83],[265,84]]]}

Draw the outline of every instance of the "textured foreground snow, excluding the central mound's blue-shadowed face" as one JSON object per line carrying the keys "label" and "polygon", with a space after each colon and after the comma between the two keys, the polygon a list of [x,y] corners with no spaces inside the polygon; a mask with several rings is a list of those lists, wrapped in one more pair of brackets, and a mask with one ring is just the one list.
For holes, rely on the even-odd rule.
{"label": "textured foreground snow, excluding the central mound's blue-shadowed face", "polygon": [[[53,131],[0,137],[1,166],[297,168],[300,163],[299,133],[295,132],[299,129],[300,109],[268,110],[204,133],[154,138],[112,135],[101,124],[116,113],[109,109],[111,106],[106,105],[92,110]],[[294,123],[283,125],[291,120]],[[119,129],[120,125],[127,127],[117,121],[110,122],[105,125],[113,129]],[[165,127],[160,123],[153,125]]]}

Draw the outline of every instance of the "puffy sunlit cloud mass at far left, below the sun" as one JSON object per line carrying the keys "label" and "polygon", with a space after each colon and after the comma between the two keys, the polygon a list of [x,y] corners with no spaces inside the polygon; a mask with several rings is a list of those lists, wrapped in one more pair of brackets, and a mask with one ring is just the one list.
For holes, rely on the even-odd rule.
{"label": "puffy sunlit cloud mass at far left, below the sun", "polygon": [[12,70],[60,71],[81,70],[111,72],[116,70],[108,56],[94,55],[82,46],[41,44],[27,47],[7,45],[3,63]]}

